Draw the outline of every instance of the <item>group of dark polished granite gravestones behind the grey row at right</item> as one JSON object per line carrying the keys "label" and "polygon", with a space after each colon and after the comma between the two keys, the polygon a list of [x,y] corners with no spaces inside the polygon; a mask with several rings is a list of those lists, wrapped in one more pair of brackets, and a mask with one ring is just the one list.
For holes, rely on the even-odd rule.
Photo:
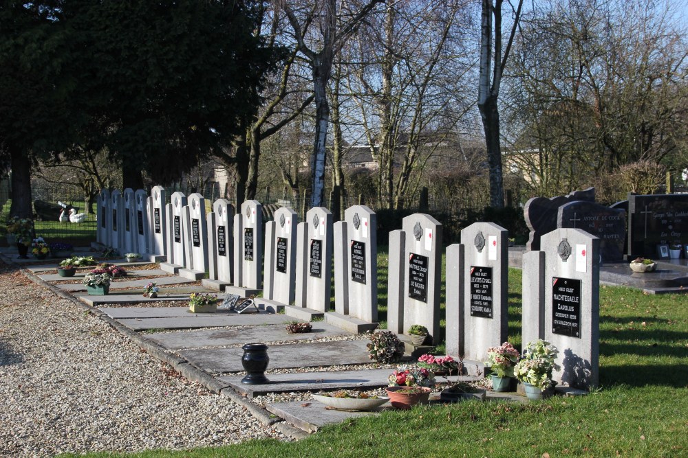
{"label": "group of dark polished granite gravestones behind the grey row at right", "polygon": [[624,255],[654,257],[660,245],[688,245],[688,194],[629,194],[627,201],[606,207],[595,203],[590,187],[566,196],[531,198],[524,216],[530,229],[528,249],[539,249],[541,236],[564,227],[598,237],[603,262],[620,262]]}

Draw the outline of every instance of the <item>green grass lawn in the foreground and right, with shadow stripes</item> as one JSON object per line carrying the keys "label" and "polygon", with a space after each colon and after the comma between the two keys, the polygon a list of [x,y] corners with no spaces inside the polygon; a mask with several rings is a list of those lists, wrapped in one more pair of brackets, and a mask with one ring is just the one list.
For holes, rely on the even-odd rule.
{"label": "green grass lawn in the foreground and right, with shadow stripes", "polygon": [[[380,273],[386,272],[386,253],[378,258]],[[389,411],[291,443],[87,456],[688,456],[688,296],[601,286],[600,301],[601,387],[589,396]],[[509,340],[520,347],[521,272],[515,269],[509,272],[509,314]]]}

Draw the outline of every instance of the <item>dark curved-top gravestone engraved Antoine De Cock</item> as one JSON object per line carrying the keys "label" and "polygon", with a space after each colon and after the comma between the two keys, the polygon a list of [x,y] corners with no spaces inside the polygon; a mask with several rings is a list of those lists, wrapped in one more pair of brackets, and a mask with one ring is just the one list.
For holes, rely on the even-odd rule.
{"label": "dark curved-top gravestone engraved Antoine De Cock", "polygon": [[559,207],[557,227],[583,229],[600,239],[602,262],[623,261],[626,212],[594,202],[570,202]]}

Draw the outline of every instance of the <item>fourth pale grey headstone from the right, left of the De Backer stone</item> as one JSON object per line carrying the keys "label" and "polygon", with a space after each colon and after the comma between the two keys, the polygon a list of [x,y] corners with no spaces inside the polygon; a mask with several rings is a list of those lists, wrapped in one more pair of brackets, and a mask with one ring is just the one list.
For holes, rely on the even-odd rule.
{"label": "fourth pale grey headstone from the right, left of the De Backer stone", "polygon": [[377,216],[365,205],[344,211],[334,224],[334,312],[325,321],[352,332],[378,320]]}

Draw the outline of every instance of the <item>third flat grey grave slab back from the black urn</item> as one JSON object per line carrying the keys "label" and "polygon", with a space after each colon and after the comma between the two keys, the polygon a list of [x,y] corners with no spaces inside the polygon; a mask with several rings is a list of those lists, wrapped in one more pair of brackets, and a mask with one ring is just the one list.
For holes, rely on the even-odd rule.
{"label": "third flat grey grave slab back from the black urn", "polygon": [[[244,314],[218,314],[218,313],[191,313],[186,312],[187,317],[169,317],[169,318],[136,318],[136,319],[119,319],[118,321],[134,331],[142,331],[147,329],[199,329],[199,328],[217,328],[223,326],[246,326],[255,325],[254,317],[261,317],[261,324],[285,324],[290,321],[288,317],[281,314],[259,314],[259,315],[244,315]],[[288,345],[283,345],[288,346]],[[239,366],[241,366],[241,355],[244,351],[241,348],[235,349],[239,352]],[[207,350],[206,350],[207,351]],[[236,369],[237,371],[244,370],[243,368]]]}

